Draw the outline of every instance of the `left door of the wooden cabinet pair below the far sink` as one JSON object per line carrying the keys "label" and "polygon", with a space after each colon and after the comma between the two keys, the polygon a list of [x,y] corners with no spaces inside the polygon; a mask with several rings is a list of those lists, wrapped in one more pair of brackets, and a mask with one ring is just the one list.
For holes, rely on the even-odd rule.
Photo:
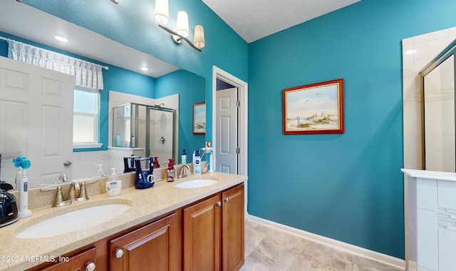
{"label": "left door of the wooden cabinet pair below the far sink", "polygon": [[184,270],[220,270],[220,194],[184,209]]}

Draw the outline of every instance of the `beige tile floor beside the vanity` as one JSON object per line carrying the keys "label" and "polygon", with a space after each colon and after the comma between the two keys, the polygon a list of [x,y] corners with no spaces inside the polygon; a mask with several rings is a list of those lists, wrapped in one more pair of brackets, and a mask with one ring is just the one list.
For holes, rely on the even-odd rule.
{"label": "beige tile floor beside the vanity", "polygon": [[245,264],[241,271],[256,270],[398,271],[400,269],[246,220]]}

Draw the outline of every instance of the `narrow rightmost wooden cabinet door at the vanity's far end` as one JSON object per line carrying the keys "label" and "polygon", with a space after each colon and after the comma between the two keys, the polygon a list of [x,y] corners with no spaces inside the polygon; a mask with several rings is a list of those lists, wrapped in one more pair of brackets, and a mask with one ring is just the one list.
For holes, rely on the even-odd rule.
{"label": "narrow rightmost wooden cabinet door at the vanity's far end", "polygon": [[222,193],[222,270],[244,265],[244,185]]}

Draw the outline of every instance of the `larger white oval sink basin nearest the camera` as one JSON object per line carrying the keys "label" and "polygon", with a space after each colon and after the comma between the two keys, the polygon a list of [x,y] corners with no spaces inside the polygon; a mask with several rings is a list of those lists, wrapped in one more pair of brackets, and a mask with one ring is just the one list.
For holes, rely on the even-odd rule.
{"label": "larger white oval sink basin nearest the camera", "polygon": [[21,239],[44,238],[73,232],[105,223],[128,209],[130,209],[130,205],[122,203],[91,206],[33,224],[17,233],[16,237]]}

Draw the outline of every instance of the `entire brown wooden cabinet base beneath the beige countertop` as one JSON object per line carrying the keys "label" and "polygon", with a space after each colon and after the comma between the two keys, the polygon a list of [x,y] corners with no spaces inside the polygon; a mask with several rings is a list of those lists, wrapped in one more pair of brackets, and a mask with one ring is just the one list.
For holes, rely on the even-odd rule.
{"label": "entire brown wooden cabinet base beneath the beige countertop", "polygon": [[239,270],[244,265],[244,184],[105,237],[31,270]]}

